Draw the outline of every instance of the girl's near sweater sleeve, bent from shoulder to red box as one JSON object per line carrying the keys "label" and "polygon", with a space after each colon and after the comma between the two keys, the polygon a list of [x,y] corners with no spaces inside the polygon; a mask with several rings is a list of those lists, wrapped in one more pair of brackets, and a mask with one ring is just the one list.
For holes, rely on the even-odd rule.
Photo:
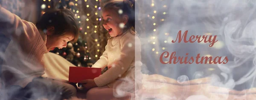
{"label": "girl's near sweater sleeve, bent from shoulder to red box", "polygon": [[135,58],[135,38],[133,34],[126,34],[121,38],[121,54],[118,59],[116,59],[110,69],[100,75],[99,77],[94,78],[94,82],[97,86],[102,87],[108,83],[113,82],[118,77],[121,77],[122,74],[127,71],[128,67]]}

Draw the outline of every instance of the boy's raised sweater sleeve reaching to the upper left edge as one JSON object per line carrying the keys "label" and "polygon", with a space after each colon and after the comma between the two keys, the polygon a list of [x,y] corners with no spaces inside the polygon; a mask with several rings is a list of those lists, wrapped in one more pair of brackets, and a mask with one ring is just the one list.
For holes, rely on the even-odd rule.
{"label": "boy's raised sweater sleeve reaching to the upper left edge", "polygon": [[46,43],[33,23],[21,20],[15,14],[0,6],[0,34],[5,35],[20,46],[22,53],[29,62],[41,63],[47,53]]}

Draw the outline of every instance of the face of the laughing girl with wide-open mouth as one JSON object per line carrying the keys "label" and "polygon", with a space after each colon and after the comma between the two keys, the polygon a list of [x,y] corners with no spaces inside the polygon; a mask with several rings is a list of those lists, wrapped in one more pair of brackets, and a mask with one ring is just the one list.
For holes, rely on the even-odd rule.
{"label": "face of the laughing girl with wide-open mouth", "polygon": [[118,34],[122,33],[122,28],[119,27],[120,23],[124,23],[124,20],[120,18],[119,14],[113,10],[103,10],[103,26],[111,37],[116,37]]}

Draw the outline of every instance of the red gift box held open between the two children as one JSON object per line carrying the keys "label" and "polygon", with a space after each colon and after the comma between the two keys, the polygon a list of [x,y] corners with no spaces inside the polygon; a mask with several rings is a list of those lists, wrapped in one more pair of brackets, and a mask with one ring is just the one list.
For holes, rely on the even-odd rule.
{"label": "red gift box held open between the two children", "polygon": [[69,82],[79,83],[81,80],[94,79],[101,74],[101,68],[70,67]]}

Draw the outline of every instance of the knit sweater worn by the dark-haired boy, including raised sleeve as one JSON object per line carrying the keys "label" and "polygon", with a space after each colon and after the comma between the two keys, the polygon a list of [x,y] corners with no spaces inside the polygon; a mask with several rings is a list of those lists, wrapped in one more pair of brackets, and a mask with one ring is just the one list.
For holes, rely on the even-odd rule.
{"label": "knit sweater worn by the dark-haired boy, including raised sleeve", "polygon": [[[0,6],[0,34],[11,41],[5,52],[1,80],[5,86],[26,86],[35,77],[44,74],[43,55],[47,53],[46,34],[40,34],[33,23],[21,20]],[[0,46],[1,47],[1,46]]]}

